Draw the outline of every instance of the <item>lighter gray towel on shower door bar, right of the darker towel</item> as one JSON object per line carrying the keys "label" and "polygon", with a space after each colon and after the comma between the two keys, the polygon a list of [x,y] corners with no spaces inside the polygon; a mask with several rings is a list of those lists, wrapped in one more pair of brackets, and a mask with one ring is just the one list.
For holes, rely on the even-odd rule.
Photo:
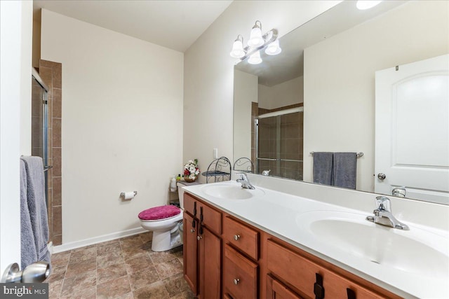
{"label": "lighter gray towel on shower door bar, right of the darker towel", "polygon": [[37,260],[51,263],[48,242],[48,216],[45,178],[41,157],[22,156],[27,172],[27,203],[36,245]]}

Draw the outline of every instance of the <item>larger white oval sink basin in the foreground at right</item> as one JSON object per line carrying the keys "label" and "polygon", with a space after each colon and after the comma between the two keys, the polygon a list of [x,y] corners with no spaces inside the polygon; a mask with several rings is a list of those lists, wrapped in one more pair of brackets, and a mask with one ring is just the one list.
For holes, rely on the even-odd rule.
{"label": "larger white oval sink basin in the foreground at right", "polygon": [[397,270],[432,277],[449,276],[448,237],[430,230],[388,228],[366,221],[368,214],[311,211],[296,223],[309,237],[333,250]]}

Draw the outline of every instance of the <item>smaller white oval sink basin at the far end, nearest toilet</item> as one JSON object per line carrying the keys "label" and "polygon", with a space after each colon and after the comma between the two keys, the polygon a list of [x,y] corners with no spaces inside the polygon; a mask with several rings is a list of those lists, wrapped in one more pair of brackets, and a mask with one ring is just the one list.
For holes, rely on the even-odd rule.
{"label": "smaller white oval sink basin at the far end, nearest toilet", "polygon": [[264,191],[259,188],[254,190],[241,188],[240,184],[210,184],[201,187],[201,191],[206,195],[217,197],[223,200],[249,200],[253,197],[264,195]]}

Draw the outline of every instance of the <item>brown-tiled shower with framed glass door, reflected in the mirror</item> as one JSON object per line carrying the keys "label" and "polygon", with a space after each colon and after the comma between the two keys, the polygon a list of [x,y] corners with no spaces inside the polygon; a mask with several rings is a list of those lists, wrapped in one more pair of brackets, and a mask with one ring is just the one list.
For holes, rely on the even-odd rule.
{"label": "brown-tiled shower with framed glass door, reflected in the mirror", "polygon": [[255,118],[255,169],[270,176],[302,181],[304,107],[264,113]]}

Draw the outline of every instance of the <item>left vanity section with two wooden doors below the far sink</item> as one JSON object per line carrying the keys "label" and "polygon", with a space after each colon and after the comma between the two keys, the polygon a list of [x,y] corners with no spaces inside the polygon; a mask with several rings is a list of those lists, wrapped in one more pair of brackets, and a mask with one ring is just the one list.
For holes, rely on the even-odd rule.
{"label": "left vanity section with two wooden doors below the far sink", "polygon": [[186,193],[184,207],[184,277],[198,298],[221,298],[222,214]]}

